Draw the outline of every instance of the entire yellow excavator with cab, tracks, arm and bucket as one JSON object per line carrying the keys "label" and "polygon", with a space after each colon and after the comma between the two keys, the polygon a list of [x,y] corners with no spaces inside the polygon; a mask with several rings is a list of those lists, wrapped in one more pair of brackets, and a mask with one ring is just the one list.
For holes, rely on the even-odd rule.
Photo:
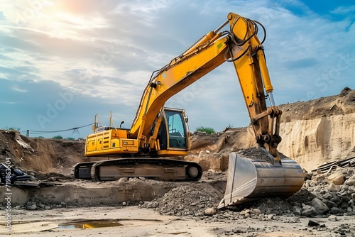
{"label": "entire yellow excavator with cab, tracks, arm and bucket", "polygon": [[[224,26],[229,31],[222,31]],[[257,33],[261,26],[263,40]],[[190,86],[224,62],[236,70],[249,111],[259,150],[267,158],[229,156],[226,193],[219,208],[261,197],[288,197],[302,187],[302,168],[278,153],[280,115],[263,51],[265,28],[249,18],[229,13],[215,31],[203,35],[184,53],[153,72],[143,92],[130,129],[116,128],[111,120],[102,126],[95,116],[87,136],[85,155],[113,158],[75,165],[74,175],[98,181],[120,177],[153,177],[160,180],[199,180],[202,168],[196,162],[169,157],[187,155],[190,133],[182,109],[165,108],[170,97]],[[264,91],[265,89],[265,91]],[[270,106],[266,106],[266,98]],[[111,123],[113,126],[111,126]]]}

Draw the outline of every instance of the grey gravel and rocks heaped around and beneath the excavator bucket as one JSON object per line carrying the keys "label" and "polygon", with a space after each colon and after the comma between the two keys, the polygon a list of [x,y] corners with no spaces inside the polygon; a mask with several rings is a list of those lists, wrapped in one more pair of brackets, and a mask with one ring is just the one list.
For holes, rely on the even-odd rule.
{"label": "grey gravel and rocks heaped around and beneath the excavator bucket", "polygon": [[263,221],[276,216],[337,216],[355,215],[355,167],[337,168],[323,173],[306,174],[302,189],[288,199],[266,198],[257,202],[218,210],[218,195],[190,185],[177,187],[153,202],[140,207],[153,208],[160,214],[187,218],[221,219],[255,218]]}

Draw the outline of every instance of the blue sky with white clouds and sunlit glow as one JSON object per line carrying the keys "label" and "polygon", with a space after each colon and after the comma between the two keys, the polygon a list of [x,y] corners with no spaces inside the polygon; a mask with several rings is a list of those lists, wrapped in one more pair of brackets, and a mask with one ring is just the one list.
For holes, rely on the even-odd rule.
{"label": "blue sky with white clouds and sunlit glow", "polygon": [[[151,72],[231,11],[260,21],[276,104],[355,89],[353,1],[0,0],[0,128],[58,131],[100,114],[129,128]],[[175,95],[190,130],[248,126],[228,62]],[[79,133],[31,136],[85,137]]]}

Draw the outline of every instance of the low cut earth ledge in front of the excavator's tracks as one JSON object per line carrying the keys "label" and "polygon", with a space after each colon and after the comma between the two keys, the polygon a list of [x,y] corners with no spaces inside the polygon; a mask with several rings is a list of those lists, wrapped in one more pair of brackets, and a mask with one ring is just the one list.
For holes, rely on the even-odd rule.
{"label": "low cut earth ledge in front of the excavator's tracks", "polygon": [[[142,178],[143,179],[143,178]],[[120,182],[56,182],[47,187],[12,187],[11,205],[23,206],[26,209],[46,209],[60,206],[99,206],[120,205],[122,203],[138,203],[162,197],[165,192],[176,187],[173,182],[163,186],[153,180],[138,178],[121,180]],[[6,197],[0,194],[0,199]]]}

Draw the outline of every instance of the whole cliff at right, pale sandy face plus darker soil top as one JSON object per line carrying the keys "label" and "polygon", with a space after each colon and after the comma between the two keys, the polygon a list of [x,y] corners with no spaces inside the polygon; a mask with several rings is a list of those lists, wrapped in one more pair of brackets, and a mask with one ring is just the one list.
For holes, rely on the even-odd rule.
{"label": "whole cliff at right, pale sandy face plus darker soil top", "polygon": [[310,171],[324,162],[355,156],[355,90],[280,106],[281,153]]}

